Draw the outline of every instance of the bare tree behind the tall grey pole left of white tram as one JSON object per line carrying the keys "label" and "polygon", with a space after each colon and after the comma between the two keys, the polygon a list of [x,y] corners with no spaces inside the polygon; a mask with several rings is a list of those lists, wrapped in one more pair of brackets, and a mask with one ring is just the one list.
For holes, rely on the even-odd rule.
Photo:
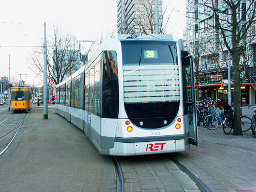
{"label": "bare tree behind the tall grey pole left of white tram", "polygon": [[[81,67],[80,52],[76,39],[70,33],[64,33],[60,27],[53,25],[53,35],[47,37],[47,70],[48,78],[60,83]],[[37,75],[44,73],[44,50],[36,49],[30,55],[30,69]]]}

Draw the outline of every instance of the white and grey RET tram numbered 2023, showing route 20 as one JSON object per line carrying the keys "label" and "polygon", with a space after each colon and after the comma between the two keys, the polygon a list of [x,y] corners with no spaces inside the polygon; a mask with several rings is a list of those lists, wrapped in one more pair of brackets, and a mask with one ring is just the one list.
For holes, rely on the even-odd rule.
{"label": "white and grey RET tram numbered 2023, showing route 20", "polygon": [[194,88],[182,39],[122,35],[57,85],[55,110],[103,155],[184,152],[198,143]]}

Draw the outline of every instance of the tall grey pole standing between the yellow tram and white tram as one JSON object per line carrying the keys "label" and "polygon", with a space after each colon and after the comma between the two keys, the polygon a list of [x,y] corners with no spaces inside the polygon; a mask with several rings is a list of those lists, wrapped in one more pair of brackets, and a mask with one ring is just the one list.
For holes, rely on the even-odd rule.
{"label": "tall grey pole standing between the yellow tram and white tram", "polygon": [[48,102],[47,102],[47,49],[46,49],[46,22],[44,25],[44,119],[48,119]]}

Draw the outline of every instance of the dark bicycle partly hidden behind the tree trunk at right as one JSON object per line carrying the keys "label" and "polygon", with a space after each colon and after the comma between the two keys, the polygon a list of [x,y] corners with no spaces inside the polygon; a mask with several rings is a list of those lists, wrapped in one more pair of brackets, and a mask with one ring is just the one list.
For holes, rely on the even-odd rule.
{"label": "dark bicycle partly hidden behind the tree trunk at right", "polygon": [[[242,108],[240,108],[242,111]],[[224,106],[224,114],[226,114],[226,118],[223,123],[223,132],[225,135],[230,134],[232,129],[234,129],[234,119],[233,119],[233,110],[229,104]],[[242,114],[242,113],[241,113]],[[241,128],[242,132],[246,132],[251,129],[251,118],[241,115],[240,116]]]}

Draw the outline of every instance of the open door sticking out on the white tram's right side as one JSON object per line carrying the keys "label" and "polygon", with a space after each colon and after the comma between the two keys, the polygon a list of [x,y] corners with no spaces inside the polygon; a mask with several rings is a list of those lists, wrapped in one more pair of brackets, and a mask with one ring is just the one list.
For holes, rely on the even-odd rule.
{"label": "open door sticking out on the white tram's right side", "polygon": [[182,80],[184,115],[188,115],[189,140],[198,145],[197,113],[193,57],[187,51],[182,53]]}

